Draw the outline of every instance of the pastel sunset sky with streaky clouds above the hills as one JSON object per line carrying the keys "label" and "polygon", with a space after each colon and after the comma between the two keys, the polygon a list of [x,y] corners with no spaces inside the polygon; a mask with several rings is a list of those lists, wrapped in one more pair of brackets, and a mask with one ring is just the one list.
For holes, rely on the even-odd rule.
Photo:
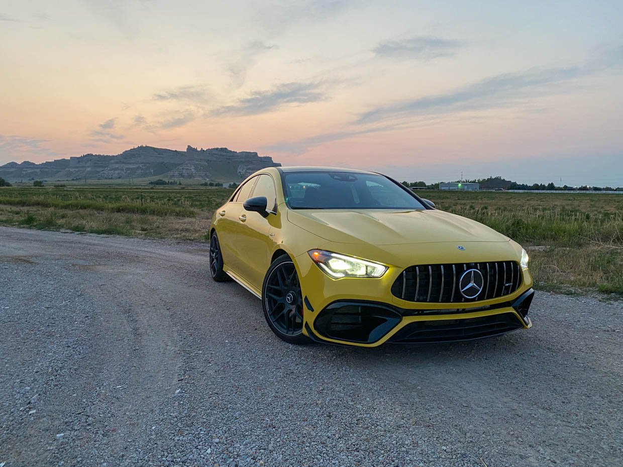
{"label": "pastel sunset sky with streaky clouds above the hills", "polygon": [[0,164],[140,144],[623,186],[623,2],[0,0]]}

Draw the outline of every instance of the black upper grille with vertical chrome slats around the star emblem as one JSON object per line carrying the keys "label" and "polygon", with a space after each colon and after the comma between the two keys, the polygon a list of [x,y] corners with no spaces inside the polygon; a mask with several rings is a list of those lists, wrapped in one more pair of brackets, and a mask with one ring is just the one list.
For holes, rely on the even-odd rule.
{"label": "black upper grille with vertical chrome slats around the star emblem", "polygon": [[[465,298],[461,294],[459,281],[463,273],[470,269],[482,274],[482,290],[473,298]],[[515,261],[433,264],[406,268],[394,281],[391,293],[407,301],[457,303],[509,295],[520,285],[521,270]]]}

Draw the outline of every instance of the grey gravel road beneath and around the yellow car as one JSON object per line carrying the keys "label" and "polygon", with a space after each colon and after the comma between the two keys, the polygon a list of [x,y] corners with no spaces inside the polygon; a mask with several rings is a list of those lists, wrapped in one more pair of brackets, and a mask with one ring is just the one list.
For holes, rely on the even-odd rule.
{"label": "grey gravel road beneath and around the yellow car", "polygon": [[297,347],[208,245],[0,227],[0,466],[621,466],[623,304]]}

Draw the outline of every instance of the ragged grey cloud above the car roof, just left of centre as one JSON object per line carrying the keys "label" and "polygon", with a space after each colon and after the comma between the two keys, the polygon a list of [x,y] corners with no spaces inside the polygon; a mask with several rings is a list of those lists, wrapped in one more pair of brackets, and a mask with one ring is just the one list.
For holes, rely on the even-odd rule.
{"label": "ragged grey cloud above the car roof, just left of centre", "polygon": [[272,90],[255,91],[250,97],[240,99],[234,105],[216,108],[208,115],[258,115],[286,104],[318,102],[326,98],[319,83],[283,83]]}

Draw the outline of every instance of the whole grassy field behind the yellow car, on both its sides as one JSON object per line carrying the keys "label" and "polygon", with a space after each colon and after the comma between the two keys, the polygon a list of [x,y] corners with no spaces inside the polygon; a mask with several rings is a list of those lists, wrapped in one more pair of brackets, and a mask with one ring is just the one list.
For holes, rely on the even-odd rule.
{"label": "whole grassy field behind the yellow car, on both its sides", "polygon": [[[231,190],[198,187],[0,188],[0,224],[205,240]],[[623,196],[424,191],[439,209],[489,225],[529,250],[536,286],[623,295]]]}

